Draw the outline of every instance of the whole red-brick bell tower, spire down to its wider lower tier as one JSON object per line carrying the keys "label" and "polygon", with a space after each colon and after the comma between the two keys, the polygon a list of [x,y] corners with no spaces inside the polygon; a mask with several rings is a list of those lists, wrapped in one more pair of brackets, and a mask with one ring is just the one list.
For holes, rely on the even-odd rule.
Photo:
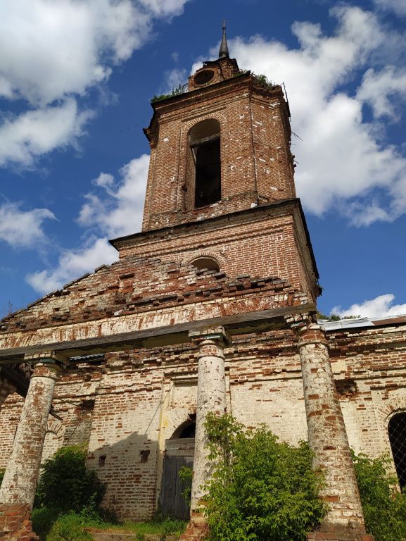
{"label": "whole red-brick bell tower, spire down to its wider lower tier", "polygon": [[281,86],[239,68],[223,24],[218,58],[152,107],[142,231],[111,241],[120,259],[278,277],[315,301],[318,274]]}

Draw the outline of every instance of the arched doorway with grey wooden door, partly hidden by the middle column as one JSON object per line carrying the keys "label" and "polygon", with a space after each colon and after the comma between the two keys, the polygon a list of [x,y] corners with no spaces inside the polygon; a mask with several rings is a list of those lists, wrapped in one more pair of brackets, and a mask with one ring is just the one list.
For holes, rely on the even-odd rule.
{"label": "arched doorway with grey wooden door, partly hidden by the middle column", "polygon": [[165,441],[160,485],[160,508],[164,516],[189,519],[190,505],[183,495],[186,485],[179,478],[179,470],[183,466],[193,468],[195,433],[196,414],[193,414]]}

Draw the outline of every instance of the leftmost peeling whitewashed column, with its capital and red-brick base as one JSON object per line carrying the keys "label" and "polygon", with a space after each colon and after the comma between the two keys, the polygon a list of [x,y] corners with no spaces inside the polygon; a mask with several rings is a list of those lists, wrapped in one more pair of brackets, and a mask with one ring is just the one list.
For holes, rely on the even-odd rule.
{"label": "leftmost peeling whitewashed column, with its capital and red-brick base", "polygon": [[[0,489],[0,533],[6,539],[30,538],[29,521],[41,464],[42,447],[58,373],[64,359],[53,352],[25,356],[35,362],[13,449]],[[32,534],[34,535],[34,534]]]}

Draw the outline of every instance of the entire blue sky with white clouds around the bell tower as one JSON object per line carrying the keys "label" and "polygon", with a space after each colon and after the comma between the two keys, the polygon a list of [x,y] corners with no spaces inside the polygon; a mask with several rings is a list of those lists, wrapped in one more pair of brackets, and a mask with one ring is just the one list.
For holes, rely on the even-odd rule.
{"label": "entire blue sky with white clouds around the bell tower", "polygon": [[217,56],[284,82],[319,309],[406,313],[406,3],[0,0],[0,314],[137,232],[154,94]]}

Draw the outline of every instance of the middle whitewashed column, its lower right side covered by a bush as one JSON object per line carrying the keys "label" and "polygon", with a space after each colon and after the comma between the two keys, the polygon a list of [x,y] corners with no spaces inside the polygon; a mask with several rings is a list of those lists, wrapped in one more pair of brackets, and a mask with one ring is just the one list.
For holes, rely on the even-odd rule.
{"label": "middle whitewashed column, its lower right side covered by a bush", "polygon": [[196,411],[196,437],[194,452],[194,478],[191,488],[191,514],[203,504],[202,485],[210,478],[210,461],[205,447],[204,422],[209,411],[221,416],[226,411],[226,382],[224,375],[224,345],[228,337],[224,328],[189,332],[198,342],[198,388]]}

